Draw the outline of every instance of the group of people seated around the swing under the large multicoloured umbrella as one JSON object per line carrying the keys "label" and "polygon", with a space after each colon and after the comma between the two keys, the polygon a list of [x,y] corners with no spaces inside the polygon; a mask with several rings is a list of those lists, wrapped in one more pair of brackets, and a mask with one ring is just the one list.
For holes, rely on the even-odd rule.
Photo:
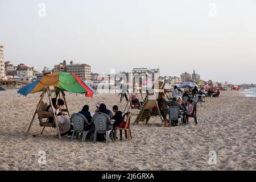
{"label": "group of people seated around the swing under the large multicoloured umbrella", "polygon": [[[55,111],[56,115],[56,120],[57,123],[59,124],[59,130],[60,130],[60,135],[65,136],[65,135],[72,135],[73,130],[73,125],[71,122],[71,119],[69,118],[68,115],[65,115],[61,109],[63,109],[65,103],[61,99],[56,99],[52,98],[52,105],[53,105],[53,110]],[[114,105],[113,106],[113,111],[107,109],[106,105],[104,103],[98,102],[96,104],[96,110],[94,110],[95,113],[105,113],[109,116],[110,120],[114,119],[113,127],[124,127],[125,121],[123,121],[123,114],[122,111],[118,110],[118,106]],[[51,105],[47,106],[46,111],[52,111]],[[114,112],[114,114],[113,114]],[[92,123],[92,115],[89,111],[89,106],[84,105],[82,107],[82,110],[78,112],[79,114],[84,115],[88,123]],[[49,122],[53,122],[53,117],[49,117]],[[111,123],[108,123],[109,129],[111,128]],[[91,125],[86,125],[84,123],[84,131],[90,130]]]}

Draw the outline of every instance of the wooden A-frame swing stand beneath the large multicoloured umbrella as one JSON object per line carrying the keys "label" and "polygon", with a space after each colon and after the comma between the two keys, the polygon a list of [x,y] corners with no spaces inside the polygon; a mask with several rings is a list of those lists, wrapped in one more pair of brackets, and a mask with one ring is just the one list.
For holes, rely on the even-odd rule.
{"label": "wooden A-frame swing stand beneath the large multicoloured umbrella", "polygon": [[[30,129],[31,129],[32,123],[35,120],[36,114],[38,114],[38,119],[39,119],[40,126],[43,127],[43,130],[42,130],[41,134],[43,134],[43,131],[44,131],[45,127],[56,127],[59,139],[61,139],[59,125],[57,123],[56,114],[54,112],[54,107],[52,105],[52,93],[53,93],[52,91],[53,90],[55,91],[55,98],[57,98],[58,96],[60,97],[60,94],[62,94],[64,102],[65,102],[65,107],[67,109],[62,109],[61,111],[67,111],[67,113],[70,117],[70,113],[69,113],[69,109],[68,109],[68,105],[67,105],[67,102],[66,102],[64,91],[63,90],[59,91],[59,90],[56,90],[55,88],[53,88],[51,86],[46,86],[46,87],[43,88],[43,93],[40,95],[40,100],[39,100],[38,105],[36,106],[35,113],[34,113],[32,119],[31,119],[30,126],[28,127],[27,133],[25,135],[26,137],[27,137],[28,133],[30,132]],[[46,109],[45,106],[47,106],[47,104],[45,104],[43,102],[43,98],[46,94],[48,96],[49,105],[51,106],[52,111],[46,111],[45,110]],[[44,109],[42,109],[42,108],[44,108]],[[52,122],[49,122],[49,117],[53,118]],[[43,119],[47,119],[46,122],[44,122]]]}

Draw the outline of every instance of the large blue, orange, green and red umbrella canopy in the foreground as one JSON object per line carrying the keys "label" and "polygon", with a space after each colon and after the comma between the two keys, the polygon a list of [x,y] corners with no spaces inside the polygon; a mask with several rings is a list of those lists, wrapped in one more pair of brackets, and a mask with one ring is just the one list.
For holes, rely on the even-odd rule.
{"label": "large blue, orange, green and red umbrella canopy in the foreground", "polygon": [[18,90],[19,94],[27,96],[43,90],[44,86],[53,86],[56,91],[67,91],[71,93],[85,93],[86,97],[92,97],[96,91],[85,81],[74,73],[55,72],[40,77],[38,80]]}

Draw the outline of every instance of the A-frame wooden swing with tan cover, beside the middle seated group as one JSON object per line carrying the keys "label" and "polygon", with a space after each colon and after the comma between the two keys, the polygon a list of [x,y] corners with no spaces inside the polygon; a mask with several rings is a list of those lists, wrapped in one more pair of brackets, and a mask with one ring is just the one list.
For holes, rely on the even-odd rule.
{"label": "A-frame wooden swing with tan cover, beside the middle seated group", "polygon": [[156,96],[155,93],[151,93],[151,94],[148,94],[148,96],[146,96],[146,101],[144,102],[144,105],[142,106],[141,110],[139,111],[139,114],[134,121],[134,125],[138,124],[139,122],[143,122],[143,123],[147,124],[148,121],[150,120],[150,117],[153,115],[151,113],[151,111],[154,108],[156,109],[156,115],[159,115],[159,117],[162,121],[162,125],[163,125],[164,118],[163,118],[162,114],[160,114],[160,110],[158,107],[158,102],[156,100],[157,99],[156,97],[159,97],[159,96]]}

